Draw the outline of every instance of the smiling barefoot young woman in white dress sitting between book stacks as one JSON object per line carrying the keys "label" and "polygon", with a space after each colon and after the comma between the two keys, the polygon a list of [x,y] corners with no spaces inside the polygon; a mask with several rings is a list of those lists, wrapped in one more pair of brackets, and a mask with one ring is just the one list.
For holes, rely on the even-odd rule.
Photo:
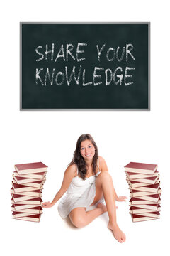
{"label": "smiling barefoot young woman in white dress sitting between book stacks", "polygon": [[[116,222],[115,201],[125,201],[118,197],[108,173],[106,161],[98,156],[98,148],[90,134],[83,134],[77,141],[72,162],[67,167],[60,191],[52,202],[42,203],[43,208],[52,207],[64,195],[58,206],[62,218],[69,215],[73,225],[82,228],[99,215],[108,211],[108,228],[118,242],[125,242],[125,234]],[[106,206],[101,203],[103,198]],[[96,204],[96,209],[86,211],[88,206]]]}

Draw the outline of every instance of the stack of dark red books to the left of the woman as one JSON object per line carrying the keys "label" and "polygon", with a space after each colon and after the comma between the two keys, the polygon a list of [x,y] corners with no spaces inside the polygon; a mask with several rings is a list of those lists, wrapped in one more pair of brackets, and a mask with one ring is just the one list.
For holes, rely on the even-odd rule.
{"label": "stack of dark red books to the left of the woman", "polygon": [[15,165],[11,188],[12,218],[40,221],[46,173],[47,166],[42,162]]}

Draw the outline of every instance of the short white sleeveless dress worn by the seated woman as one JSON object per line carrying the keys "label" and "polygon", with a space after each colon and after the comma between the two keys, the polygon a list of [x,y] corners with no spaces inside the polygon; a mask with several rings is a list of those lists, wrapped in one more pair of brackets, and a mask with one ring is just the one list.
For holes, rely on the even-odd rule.
{"label": "short white sleeveless dress worn by the seated woman", "polygon": [[[67,218],[67,215],[77,207],[85,207],[93,203],[96,196],[96,177],[100,174],[99,168],[96,175],[90,176],[83,180],[78,176],[72,179],[72,182],[67,189],[66,196],[62,198],[58,206],[58,212],[62,218]],[[103,201],[101,198],[100,202]]]}

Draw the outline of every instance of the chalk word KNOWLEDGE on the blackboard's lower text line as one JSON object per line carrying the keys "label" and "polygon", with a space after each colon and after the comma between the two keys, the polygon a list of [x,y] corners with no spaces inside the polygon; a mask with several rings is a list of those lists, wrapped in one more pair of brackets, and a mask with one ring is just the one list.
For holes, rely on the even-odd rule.
{"label": "chalk word KNOWLEDGE on the blackboard's lower text line", "polygon": [[[44,68],[36,68],[36,85],[39,84],[42,86],[47,86],[48,84],[54,85],[54,83],[56,85],[64,85],[64,82],[68,86],[74,86],[75,84],[80,86],[97,86],[101,85],[102,83],[106,86],[111,85],[111,83],[115,85],[125,86],[134,84],[134,82],[132,81],[132,73],[130,73],[130,71],[135,70],[135,68],[132,67],[118,67],[115,68],[115,70],[111,70],[111,68],[107,68],[105,70],[104,68],[95,67],[92,78],[88,82],[86,81],[86,75],[89,79],[88,70],[86,70],[85,68],[83,69],[81,65],[79,65],[79,67],[76,67],[74,65],[71,72],[68,70],[67,66],[64,67],[64,71],[55,70],[55,68],[53,68],[51,71],[50,68],[47,68],[44,71],[43,70]],[[83,72],[81,72],[82,70]],[[57,75],[55,75],[55,73],[57,73]],[[82,82],[80,82],[81,78]],[[98,81],[99,78],[100,80]],[[131,80],[129,81],[128,79],[130,78]]]}

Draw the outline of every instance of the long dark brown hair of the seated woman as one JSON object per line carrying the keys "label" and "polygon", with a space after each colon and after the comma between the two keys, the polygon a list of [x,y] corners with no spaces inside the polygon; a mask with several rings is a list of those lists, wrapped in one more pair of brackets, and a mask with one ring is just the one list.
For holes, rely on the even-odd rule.
{"label": "long dark brown hair of the seated woman", "polygon": [[77,140],[76,150],[74,151],[74,154],[73,154],[73,159],[69,164],[69,166],[71,166],[72,164],[77,165],[77,168],[79,170],[79,175],[83,180],[86,178],[87,169],[86,169],[86,162],[84,161],[83,156],[81,156],[80,154],[80,149],[81,149],[81,142],[84,142],[86,139],[89,139],[95,148],[95,154],[92,161],[92,170],[94,175],[96,174],[97,161],[98,161],[98,148],[97,148],[96,142],[94,142],[94,139],[93,137],[91,137],[90,134],[82,134],[79,137],[79,139]]}

